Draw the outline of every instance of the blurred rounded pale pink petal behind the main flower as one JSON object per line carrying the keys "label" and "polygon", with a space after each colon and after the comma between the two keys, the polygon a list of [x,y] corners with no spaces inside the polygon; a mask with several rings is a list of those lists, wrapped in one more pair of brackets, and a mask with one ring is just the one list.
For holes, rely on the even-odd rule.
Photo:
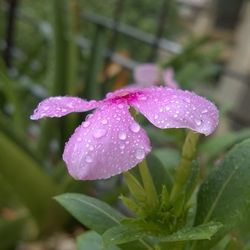
{"label": "blurred rounded pale pink petal behind the main flower", "polygon": [[160,69],[155,64],[151,63],[141,64],[134,70],[135,82],[142,87],[159,84],[161,81],[160,76]]}

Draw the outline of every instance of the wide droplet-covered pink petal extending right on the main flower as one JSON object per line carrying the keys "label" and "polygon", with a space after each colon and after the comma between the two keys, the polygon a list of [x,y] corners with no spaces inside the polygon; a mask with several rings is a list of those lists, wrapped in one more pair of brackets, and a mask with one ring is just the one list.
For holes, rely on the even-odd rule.
{"label": "wide droplet-covered pink petal extending right on the main flower", "polygon": [[218,125],[216,106],[189,91],[147,88],[144,98],[141,96],[131,104],[159,128],[189,128],[209,135]]}

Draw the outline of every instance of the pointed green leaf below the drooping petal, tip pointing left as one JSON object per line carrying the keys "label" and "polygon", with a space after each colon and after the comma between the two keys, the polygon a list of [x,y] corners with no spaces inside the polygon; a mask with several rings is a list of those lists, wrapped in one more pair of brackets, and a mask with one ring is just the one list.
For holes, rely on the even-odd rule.
{"label": "pointed green leaf below the drooping petal, tip pointing left", "polygon": [[124,218],[108,204],[83,194],[62,194],[55,199],[78,221],[100,234]]}

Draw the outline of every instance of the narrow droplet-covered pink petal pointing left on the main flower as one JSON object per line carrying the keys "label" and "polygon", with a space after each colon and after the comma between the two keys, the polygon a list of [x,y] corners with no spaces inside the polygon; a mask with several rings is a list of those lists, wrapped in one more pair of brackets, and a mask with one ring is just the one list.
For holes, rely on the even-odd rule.
{"label": "narrow droplet-covered pink petal pointing left on the main flower", "polygon": [[83,112],[98,106],[97,101],[85,101],[78,97],[49,97],[39,103],[30,119],[38,120],[44,117],[61,117],[72,112]]}

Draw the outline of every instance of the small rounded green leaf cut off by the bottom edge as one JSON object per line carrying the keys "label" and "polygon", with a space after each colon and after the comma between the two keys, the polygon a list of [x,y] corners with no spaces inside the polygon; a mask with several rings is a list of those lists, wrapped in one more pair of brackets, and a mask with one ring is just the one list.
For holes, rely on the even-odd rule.
{"label": "small rounded green leaf cut off by the bottom edge", "polygon": [[102,236],[94,231],[88,231],[77,237],[77,250],[119,250],[117,246],[104,248]]}

